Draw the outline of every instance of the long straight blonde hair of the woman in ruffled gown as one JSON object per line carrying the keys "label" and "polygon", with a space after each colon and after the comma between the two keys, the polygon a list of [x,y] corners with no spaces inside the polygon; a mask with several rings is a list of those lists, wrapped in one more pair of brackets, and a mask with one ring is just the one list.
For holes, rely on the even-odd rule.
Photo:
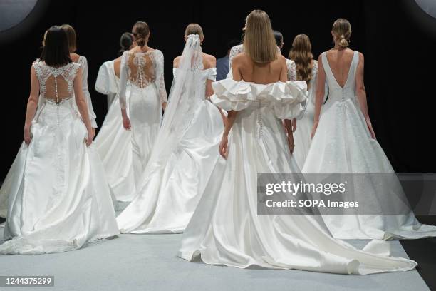
{"label": "long straight blonde hair of the woman in ruffled gown", "polygon": [[254,63],[269,63],[279,53],[268,14],[253,10],[246,16],[244,51]]}

